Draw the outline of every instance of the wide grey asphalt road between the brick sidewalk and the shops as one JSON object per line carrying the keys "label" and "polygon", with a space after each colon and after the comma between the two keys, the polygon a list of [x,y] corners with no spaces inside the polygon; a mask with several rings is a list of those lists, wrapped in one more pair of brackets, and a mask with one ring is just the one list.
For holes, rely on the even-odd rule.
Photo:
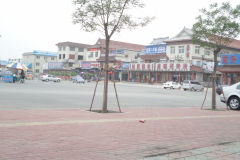
{"label": "wide grey asphalt road between the brick sidewalk and the shops", "polygon": [[[89,109],[96,82],[75,84],[28,80],[24,84],[0,82],[0,109]],[[117,83],[121,108],[126,107],[198,107],[202,105],[205,92],[163,89],[160,85]],[[97,87],[93,109],[102,106],[103,82]],[[224,108],[217,95],[217,107]],[[109,85],[108,106],[117,110],[113,84]],[[211,106],[211,90],[204,107]]]}

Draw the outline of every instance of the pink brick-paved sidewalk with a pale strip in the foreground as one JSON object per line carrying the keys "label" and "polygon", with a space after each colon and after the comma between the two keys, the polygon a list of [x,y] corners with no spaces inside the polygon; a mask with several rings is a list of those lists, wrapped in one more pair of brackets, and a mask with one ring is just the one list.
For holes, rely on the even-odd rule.
{"label": "pink brick-paved sidewalk with a pale strip in the foreground", "polygon": [[1,110],[0,160],[240,159],[238,111],[122,110]]}

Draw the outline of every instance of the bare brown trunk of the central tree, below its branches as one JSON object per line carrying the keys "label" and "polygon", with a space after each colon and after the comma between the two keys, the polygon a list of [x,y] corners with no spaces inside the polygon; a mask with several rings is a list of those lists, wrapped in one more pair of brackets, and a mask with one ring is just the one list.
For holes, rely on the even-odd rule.
{"label": "bare brown trunk of the central tree, below its branches", "polygon": [[106,53],[105,53],[105,65],[104,65],[105,78],[104,78],[103,105],[102,105],[103,113],[107,112],[109,42],[110,42],[110,38],[106,37]]}

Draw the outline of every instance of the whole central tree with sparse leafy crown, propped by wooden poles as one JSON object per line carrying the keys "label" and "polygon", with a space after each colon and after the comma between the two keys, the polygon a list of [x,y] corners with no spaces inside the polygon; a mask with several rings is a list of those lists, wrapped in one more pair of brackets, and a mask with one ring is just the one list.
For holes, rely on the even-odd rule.
{"label": "whole central tree with sparse leafy crown, propped by wooden poles", "polygon": [[108,58],[109,43],[115,32],[122,29],[134,29],[151,22],[150,17],[133,17],[130,9],[144,8],[141,0],[73,0],[76,10],[73,23],[80,24],[82,29],[91,32],[99,31],[105,35],[104,94],[102,111],[107,112],[108,96]]}

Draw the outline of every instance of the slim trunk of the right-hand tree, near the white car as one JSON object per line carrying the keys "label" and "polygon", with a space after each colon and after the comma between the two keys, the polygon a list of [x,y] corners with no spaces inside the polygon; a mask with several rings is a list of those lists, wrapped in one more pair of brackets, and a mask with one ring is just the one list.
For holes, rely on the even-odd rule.
{"label": "slim trunk of the right-hand tree, near the white car", "polygon": [[214,68],[212,73],[212,110],[216,109],[216,78],[217,78],[217,54],[221,49],[217,48],[213,51],[214,55]]}

